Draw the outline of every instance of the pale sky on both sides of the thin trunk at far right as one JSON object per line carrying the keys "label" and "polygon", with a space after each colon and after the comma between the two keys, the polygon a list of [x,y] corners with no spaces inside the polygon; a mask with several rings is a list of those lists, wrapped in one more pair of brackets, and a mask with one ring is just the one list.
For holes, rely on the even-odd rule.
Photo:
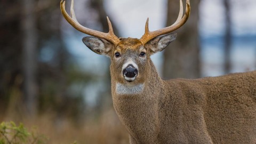
{"label": "pale sky on both sides of the thin trunk at far right", "polygon": [[[236,35],[256,33],[256,1],[230,0],[232,30]],[[200,26],[203,34],[218,34],[225,28],[223,0],[203,0],[200,9]]]}

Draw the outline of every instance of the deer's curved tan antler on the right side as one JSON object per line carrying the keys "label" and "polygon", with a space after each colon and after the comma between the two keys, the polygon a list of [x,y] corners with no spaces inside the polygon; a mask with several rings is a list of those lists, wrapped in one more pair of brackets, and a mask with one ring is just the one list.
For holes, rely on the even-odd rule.
{"label": "deer's curved tan antler on the right side", "polygon": [[184,23],[188,20],[190,14],[190,2],[189,0],[187,0],[186,2],[186,13],[182,18],[183,15],[183,4],[182,4],[182,0],[180,0],[180,12],[179,12],[179,16],[178,19],[173,23],[173,25],[169,26],[169,27],[165,27],[159,30],[155,30],[155,31],[149,31],[148,29],[148,19],[146,22],[146,26],[145,26],[145,34],[140,38],[140,41],[143,44],[146,44],[148,41],[150,41],[151,39],[157,37],[157,36],[161,36],[167,33],[171,33],[172,31],[180,28],[182,25],[184,25]]}

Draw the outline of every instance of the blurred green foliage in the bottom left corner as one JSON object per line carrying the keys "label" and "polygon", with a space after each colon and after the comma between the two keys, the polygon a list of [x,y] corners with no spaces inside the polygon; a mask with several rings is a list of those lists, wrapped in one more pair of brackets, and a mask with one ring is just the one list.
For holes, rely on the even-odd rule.
{"label": "blurred green foliage in the bottom left corner", "polygon": [[22,123],[3,122],[0,124],[0,144],[43,144],[47,138],[38,134],[36,128],[29,132]]}

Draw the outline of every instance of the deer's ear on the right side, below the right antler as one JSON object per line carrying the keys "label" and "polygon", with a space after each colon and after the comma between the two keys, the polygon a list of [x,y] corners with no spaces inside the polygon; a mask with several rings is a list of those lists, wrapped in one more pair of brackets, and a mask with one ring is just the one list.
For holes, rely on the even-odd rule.
{"label": "deer's ear on the right side, below the right antler", "polygon": [[148,43],[145,44],[145,47],[149,49],[150,54],[154,54],[159,51],[163,51],[166,46],[168,46],[171,42],[173,42],[177,37],[177,34],[169,34],[158,36]]}

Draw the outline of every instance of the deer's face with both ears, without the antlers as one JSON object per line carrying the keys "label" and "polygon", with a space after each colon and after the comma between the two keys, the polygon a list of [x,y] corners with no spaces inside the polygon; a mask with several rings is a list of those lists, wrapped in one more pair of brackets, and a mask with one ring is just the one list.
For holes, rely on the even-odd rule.
{"label": "deer's face with both ears, without the antlers", "polygon": [[111,76],[121,84],[144,83],[150,73],[150,55],[164,50],[177,34],[159,36],[145,45],[137,38],[121,38],[114,44],[96,37],[84,37],[84,44],[93,52],[111,59]]}

